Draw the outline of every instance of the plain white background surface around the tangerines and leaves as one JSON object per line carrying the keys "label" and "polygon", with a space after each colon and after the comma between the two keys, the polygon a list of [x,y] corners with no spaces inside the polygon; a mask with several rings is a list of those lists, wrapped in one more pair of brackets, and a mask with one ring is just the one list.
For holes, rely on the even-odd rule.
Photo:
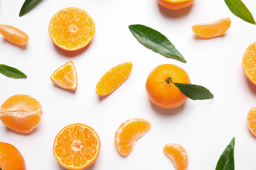
{"label": "plain white background surface around the tangerines and leaves", "polygon": [[[15,46],[0,36],[0,63],[16,67],[28,78],[0,75],[0,104],[15,94],[39,100],[43,116],[28,135],[16,133],[0,123],[0,141],[20,150],[28,170],[64,169],[53,156],[53,141],[60,129],[82,123],[93,127],[101,141],[100,155],[90,170],[175,169],[163,154],[163,145],[179,143],[188,152],[188,169],[215,169],[219,156],[236,137],[236,169],[256,169],[256,138],[247,128],[246,117],[256,107],[256,86],[244,75],[242,57],[256,41],[256,25],[234,16],[223,0],[195,0],[182,10],[168,10],[156,0],[62,0],[41,1],[30,12],[18,16],[24,1],[0,0],[0,24],[13,25],[28,33],[25,47]],[[256,18],[256,1],[243,1]],[[66,52],[49,37],[51,17],[58,10],[77,7],[95,21],[91,43],[77,52]],[[230,17],[224,36],[200,39],[192,25]],[[165,58],[146,48],[128,29],[142,24],[163,33],[187,63]],[[72,93],[54,86],[52,73],[68,61],[77,69],[78,87]],[[95,86],[108,69],[131,61],[133,71],[117,90],[99,97]],[[148,99],[145,82],[154,67],[173,63],[190,75],[192,84],[208,88],[211,100],[188,99],[177,109],[161,109]],[[117,127],[129,118],[145,118],[152,128],[122,157],[114,146]]]}

